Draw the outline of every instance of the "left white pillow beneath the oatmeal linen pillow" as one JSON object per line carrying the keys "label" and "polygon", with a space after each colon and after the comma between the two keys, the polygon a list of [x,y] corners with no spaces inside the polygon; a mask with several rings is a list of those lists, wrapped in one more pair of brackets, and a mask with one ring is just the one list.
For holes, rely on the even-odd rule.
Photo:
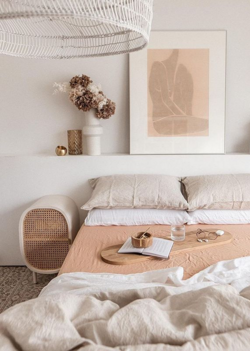
{"label": "left white pillow beneath the oatmeal linen pillow", "polygon": [[184,210],[162,209],[92,209],[86,226],[141,226],[153,224],[184,224],[189,220]]}

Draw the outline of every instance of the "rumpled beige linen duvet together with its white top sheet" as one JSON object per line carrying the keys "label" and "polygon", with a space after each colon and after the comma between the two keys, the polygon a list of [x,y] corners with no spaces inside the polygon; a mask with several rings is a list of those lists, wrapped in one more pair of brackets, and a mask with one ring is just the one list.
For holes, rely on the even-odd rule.
{"label": "rumpled beige linen duvet together with its white top sheet", "polygon": [[250,257],[182,276],[60,275],[0,314],[0,350],[250,350]]}

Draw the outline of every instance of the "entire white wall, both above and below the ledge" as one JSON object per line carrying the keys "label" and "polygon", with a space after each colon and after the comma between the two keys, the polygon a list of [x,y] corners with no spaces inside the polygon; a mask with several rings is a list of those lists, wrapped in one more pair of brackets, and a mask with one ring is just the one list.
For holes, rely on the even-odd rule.
{"label": "entire white wall, both above and below the ledge", "polygon": [[[226,151],[248,152],[249,0],[154,0],[152,30],[227,31]],[[18,219],[42,195],[65,194],[80,206],[90,194],[87,179],[101,174],[250,171],[248,155],[52,156],[57,144],[67,144],[66,130],[83,125],[83,113],[65,95],[52,95],[52,84],[82,73],[116,102],[116,114],[101,121],[102,151],[129,152],[128,56],[61,61],[0,56],[0,264],[22,263]]]}

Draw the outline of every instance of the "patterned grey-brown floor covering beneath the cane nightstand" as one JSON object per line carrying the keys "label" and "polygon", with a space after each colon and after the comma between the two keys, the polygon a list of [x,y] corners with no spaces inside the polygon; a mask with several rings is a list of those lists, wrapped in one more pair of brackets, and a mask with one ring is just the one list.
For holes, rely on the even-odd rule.
{"label": "patterned grey-brown floor covering beneath the cane nightstand", "polygon": [[37,297],[56,275],[37,273],[37,284],[34,284],[27,267],[0,266],[0,313],[16,303]]}

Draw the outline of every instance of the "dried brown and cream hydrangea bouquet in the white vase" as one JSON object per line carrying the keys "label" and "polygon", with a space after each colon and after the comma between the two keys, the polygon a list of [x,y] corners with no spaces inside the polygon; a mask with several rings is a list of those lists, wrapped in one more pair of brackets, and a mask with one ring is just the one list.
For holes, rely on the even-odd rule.
{"label": "dried brown and cream hydrangea bouquet in the white vase", "polygon": [[100,84],[94,84],[91,79],[82,75],[73,77],[69,83],[54,83],[54,94],[69,93],[72,103],[84,112],[96,108],[96,117],[107,119],[115,112],[115,103],[108,99],[101,91]]}

